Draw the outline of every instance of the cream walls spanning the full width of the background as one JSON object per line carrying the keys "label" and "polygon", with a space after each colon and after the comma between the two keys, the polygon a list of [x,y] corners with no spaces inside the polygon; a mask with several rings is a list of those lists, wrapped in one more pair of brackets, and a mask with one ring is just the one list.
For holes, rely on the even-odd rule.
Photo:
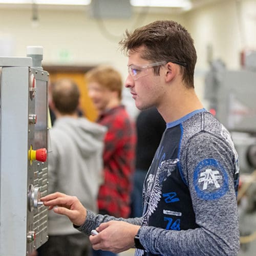
{"label": "cream walls spanning the full width of the background", "polygon": [[[131,19],[104,20],[104,27],[114,35],[106,38],[97,21],[85,9],[39,9],[39,26],[31,26],[31,9],[0,9],[0,48],[14,56],[25,56],[27,45],[44,47],[45,64],[97,65],[108,63],[127,74],[127,59],[118,49],[125,29],[133,30],[157,19],[174,19],[184,25],[195,39],[198,52],[196,90],[203,99],[204,75],[208,70],[207,45],[212,46],[213,58],[221,58],[229,69],[239,69],[240,51],[256,49],[256,1],[216,1],[214,4],[183,14],[150,13],[136,24],[138,13]],[[1,8],[1,7],[0,7]],[[2,44],[3,45],[3,44]],[[1,54],[0,50],[0,54]],[[130,97],[126,96],[125,98]],[[133,105],[133,103],[131,103]]]}

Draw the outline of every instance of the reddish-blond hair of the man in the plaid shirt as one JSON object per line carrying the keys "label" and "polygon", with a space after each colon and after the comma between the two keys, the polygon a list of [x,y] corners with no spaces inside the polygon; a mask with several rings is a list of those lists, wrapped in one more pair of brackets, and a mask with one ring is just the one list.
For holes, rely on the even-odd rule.
{"label": "reddish-blond hair of the man in the plaid shirt", "polygon": [[117,91],[118,97],[122,95],[122,77],[118,71],[109,66],[98,66],[86,73],[87,81],[97,82],[102,87]]}

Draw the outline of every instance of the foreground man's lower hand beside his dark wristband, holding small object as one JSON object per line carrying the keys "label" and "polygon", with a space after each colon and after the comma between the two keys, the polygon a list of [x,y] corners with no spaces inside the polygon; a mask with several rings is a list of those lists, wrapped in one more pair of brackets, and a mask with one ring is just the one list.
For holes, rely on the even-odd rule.
{"label": "foreground man's lower hand beside his dark wristband, holding small object", "polygon": [[96,230],[99,234],[90,236],[94,250],[108,250],[119,253],[134,247],[134,237],[140,226],[123,221],[101,223]]}

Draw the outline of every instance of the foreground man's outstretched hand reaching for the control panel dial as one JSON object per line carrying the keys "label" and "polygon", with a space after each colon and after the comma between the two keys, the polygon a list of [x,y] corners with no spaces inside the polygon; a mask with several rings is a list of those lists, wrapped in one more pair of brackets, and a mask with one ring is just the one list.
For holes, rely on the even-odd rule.
{"label": "foreground man's outstretched hand reaching for the control panel dial", "polygon": [[81,226],[86,221],[87,210],[77,197],[56,192],[42,197],[40,200],[44,202],[45,206],[49,206],[49,210],[53,209],[56,214],[66,215],[77,226]]}

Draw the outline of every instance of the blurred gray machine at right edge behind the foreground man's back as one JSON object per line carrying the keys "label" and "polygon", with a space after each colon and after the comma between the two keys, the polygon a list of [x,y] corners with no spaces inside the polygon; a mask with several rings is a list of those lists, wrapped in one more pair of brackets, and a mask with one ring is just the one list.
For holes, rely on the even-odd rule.
{"label": "blurred gray machine at right edge behind the foreground man's back", "polygon": [[205,79],[209,111],[231,133],[239,155],[238,193],[241,250],[256,251],[256,52],[244,52],[242,69],[227,70],[221,60],[213,61]]}

